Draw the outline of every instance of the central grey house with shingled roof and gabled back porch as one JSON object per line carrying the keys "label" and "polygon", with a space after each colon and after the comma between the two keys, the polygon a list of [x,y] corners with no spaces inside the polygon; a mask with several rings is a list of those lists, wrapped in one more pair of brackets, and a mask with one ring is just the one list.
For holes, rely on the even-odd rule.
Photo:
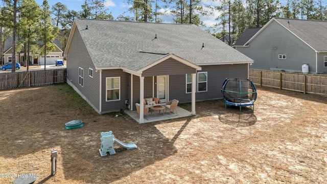
{"label": "central grey house with shingled roof and gabled back porch", "polygon": [[[100,114],[143,99],[220,99],[225,78],[247,78],[253,60],[197,26],[75,19],[64,56],[67,83]],[[140,100],[142,99],[142,100]]]}

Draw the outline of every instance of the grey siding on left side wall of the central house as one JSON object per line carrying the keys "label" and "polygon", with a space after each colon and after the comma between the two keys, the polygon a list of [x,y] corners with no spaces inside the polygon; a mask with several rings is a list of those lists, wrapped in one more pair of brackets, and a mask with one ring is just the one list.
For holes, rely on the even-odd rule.
{"label": "grey siding on left side wall of the central house", "polygon": [[[84,96],[84,99],[97,111],[100,111],[99,89],[100,71],[95,66],[85,47],[78,29],[75,29],[71,47],[66,56],[67,60],[67,81]],[[83,87],[79,85],[79,67],[83,68]],[[89,77],[88,68],[93,69],[93,78]]]}

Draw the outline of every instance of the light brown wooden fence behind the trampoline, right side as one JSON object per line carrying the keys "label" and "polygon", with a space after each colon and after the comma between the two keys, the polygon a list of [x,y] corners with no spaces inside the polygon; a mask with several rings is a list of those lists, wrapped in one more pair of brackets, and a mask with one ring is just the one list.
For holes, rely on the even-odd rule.
{"label": "light brown wooden fence behind the trampoline, right side", "polygon": [[266,70],[249,70],[249,79],[255,85],[327,95],[327,75],[295,74]]}

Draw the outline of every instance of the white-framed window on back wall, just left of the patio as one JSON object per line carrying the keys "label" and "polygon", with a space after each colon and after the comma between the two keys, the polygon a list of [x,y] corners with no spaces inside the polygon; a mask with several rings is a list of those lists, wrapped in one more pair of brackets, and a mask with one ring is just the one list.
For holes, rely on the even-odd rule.
{"label": "white-framed window on back wall, just left of the patio", "polygon": [[121,99],[121,77],[106,77],[106,101]]}

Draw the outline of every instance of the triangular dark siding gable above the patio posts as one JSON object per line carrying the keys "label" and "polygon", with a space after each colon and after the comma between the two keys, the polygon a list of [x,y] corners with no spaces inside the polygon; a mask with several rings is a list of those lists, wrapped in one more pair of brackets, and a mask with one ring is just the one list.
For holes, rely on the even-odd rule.
{"label": "triangular dark siding gable above the patio posts", "polygon": [[175,59],[169,58],[144,71],[142,76],[162,76],[195,73],[195,69]]}

